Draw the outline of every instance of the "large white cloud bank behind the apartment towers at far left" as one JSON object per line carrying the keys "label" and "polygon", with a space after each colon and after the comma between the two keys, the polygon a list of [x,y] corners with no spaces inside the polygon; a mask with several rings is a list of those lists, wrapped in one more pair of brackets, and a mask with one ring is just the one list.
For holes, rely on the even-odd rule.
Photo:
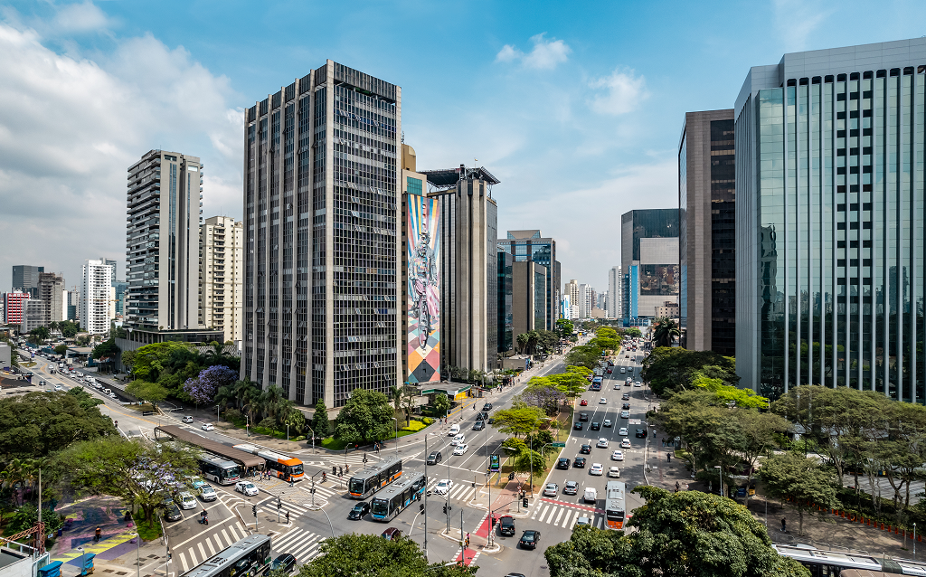
{"label": "large white cloud bank behind the apartment towers at far left", "polygon": [[0,273],[35,264],[70,286],[102,256],[123,276],[126,169],[152,148],[201,157],[204,216],[220,204],[240,218],[241,111],[228,79],[182,47],[144,36],[94,61],[0,22],[0,54]]}

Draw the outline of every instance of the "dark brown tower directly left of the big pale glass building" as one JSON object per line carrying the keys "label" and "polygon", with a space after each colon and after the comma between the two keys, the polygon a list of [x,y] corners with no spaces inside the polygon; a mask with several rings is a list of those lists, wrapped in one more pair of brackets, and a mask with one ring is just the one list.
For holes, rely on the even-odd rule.
{"label": "dark brown tower directly left of the big pale glass building", "polygon": [[691,350],[736,353],[733,111],[688,112],[679,144],[679,324]]}

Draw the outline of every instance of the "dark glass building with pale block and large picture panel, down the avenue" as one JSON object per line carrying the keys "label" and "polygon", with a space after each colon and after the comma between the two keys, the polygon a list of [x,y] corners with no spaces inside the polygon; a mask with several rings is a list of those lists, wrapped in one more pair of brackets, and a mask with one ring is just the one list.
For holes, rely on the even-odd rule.
{"label": "dark glass building with pale block and large picture panel, down the avenue", "polygon": [[623,291],[624,319],[656,317],[679,296],[679,210],[631,210],[620,216],[620,268],[632,282]]}

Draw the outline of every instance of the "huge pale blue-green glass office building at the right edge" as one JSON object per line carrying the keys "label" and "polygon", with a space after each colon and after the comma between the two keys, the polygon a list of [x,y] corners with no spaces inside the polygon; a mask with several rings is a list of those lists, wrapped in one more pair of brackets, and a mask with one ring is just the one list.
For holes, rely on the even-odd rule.
{"label": "huge pale blue-green glass office building at the right edge", "polygon": [[926,401],[926,38],[785,54],[734,107],[736,371]]}

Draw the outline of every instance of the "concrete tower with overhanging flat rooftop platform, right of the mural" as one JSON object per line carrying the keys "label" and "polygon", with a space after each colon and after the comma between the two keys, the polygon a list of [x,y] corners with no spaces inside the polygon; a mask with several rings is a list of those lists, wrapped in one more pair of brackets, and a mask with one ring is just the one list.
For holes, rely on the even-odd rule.
{"label": "concrete tower with overhanging flat rooftop platform, right of the mural", "polygon": [[441,364],[492,370],[498,351],[499,181],[484,167],[421,170],[437,200],[441,275]]}

